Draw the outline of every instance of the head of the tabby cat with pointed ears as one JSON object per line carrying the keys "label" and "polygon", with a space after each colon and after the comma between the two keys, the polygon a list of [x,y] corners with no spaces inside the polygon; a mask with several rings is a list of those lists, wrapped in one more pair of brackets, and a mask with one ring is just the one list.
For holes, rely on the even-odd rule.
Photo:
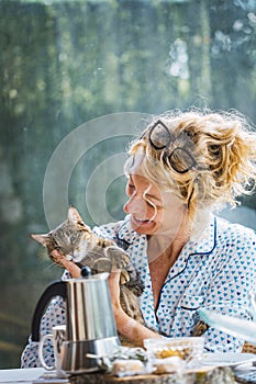
{"label": "head of the tabby cat with pointed ears", "polygon": [[85,255],[86,244],[90,241],[91,236],[90,227],[84,223],[74,207],[69,207],[67,219],[48,234],[31,235],[33,239],[47,248],[51,259],[56,263],[58,261],[51,253],[54,249],[57,249],[63,256],[69,256],[75,262],[80,261],[81,255]]}

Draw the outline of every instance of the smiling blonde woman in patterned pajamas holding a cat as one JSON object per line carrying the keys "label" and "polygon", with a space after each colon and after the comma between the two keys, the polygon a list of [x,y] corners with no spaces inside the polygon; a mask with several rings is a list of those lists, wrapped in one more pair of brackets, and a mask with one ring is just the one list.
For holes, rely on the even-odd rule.
{"label": "smiling blonde woman in patterned pajamas holding a cat", "polygon": [[[137,346],[162,335],[192,336],[201,307],[249,318],[255,233],[213,213],[223,204],[235,206],[240,195],[253,191],[255,160],[256,134],[237,113],[166,113],[155,116],[132,144],[125,165],[127,215],[94,228],[123,244],[145,285],[141,296],[145,325],[141,325],[121,308],[120,273],[111,274],[119,332]],[[63,264],[73,276],[79,275],[73,262]],[[51,305],[42,327],[51,329],[57,316],[65,321],[60,302]],[[205,350],[242,349],[242,340],[214,328],[204,330]],[[29,345],[23,366],[37,364],[35,348]]]}

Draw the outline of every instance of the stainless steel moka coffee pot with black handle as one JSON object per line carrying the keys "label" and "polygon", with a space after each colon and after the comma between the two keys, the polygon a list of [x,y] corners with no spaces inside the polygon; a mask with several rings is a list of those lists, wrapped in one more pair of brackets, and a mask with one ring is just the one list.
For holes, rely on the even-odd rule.
{"label": "stainless steel moka coffee pot with black handle", "polygon": [[66,341],[62,369],[67,373],[96,372],[103,369],[120,340],[112,312],[109,273],[56,281],[42,294],[32,320],[32,340],[40,341],[41,318],[54,296],[66,301]]}

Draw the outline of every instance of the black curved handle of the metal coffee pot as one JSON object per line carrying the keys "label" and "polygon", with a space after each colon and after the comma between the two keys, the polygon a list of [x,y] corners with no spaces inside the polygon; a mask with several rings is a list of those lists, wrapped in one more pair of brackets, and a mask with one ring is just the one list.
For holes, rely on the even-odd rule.
{"label": "black curved handle of the metal coffee pot", "polygon": [[40,297],[32,319],[32,341],[40,341],[41,318],[44,315],[48,302],[55,296],[67,297],[67,285],[64,281],[55,281],[49,284]]}

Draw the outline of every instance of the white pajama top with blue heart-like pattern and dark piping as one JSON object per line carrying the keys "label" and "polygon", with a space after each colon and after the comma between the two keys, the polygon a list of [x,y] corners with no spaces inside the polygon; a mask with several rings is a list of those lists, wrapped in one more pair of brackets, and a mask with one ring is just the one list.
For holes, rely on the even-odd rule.
{"label": "white pajama top with blue heart-like pattern and dark piping", "polygon": [[[145,290],[140,297],[145,325],[165,336],[191,336],[199,321],[200,307],[229,316],[249,319],[247,292],[256,289],[256,235],[253,229],[211,216],[200,239],[190,239],[170,268],[163,285],[158,307],[154,309],[152,281],[147,264],[147,240],[131,228],[130,217],[96,227],[94,233],[112,238],[126,249],[138,270]],[[67,272],[63,279],[67,279]],[[57,324],[65,324],[65,303],[52,301],[41,324],[41,335]],[[241,351],[243,340],[209,328],[204,334],[205,350]],[[32,342],[22,353],[22,368],[40,366],[38,343]],[[45,346],[45,360],[53,364],[51,345]]]}

